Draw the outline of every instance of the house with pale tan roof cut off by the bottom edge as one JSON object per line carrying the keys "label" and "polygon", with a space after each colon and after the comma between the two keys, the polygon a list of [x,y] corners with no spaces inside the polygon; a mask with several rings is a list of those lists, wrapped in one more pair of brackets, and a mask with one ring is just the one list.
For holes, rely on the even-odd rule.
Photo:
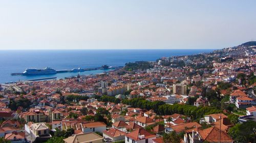
{"label": "house with pale tan roof cut off by the bottom edge", "polygon": [[88,133],[75,134],[63,140],[65,141],[65,143],[77,143],[77,142],[102,143],[103,142],[102,139],[103,139],[102,136],[94,132],[88,132]]}

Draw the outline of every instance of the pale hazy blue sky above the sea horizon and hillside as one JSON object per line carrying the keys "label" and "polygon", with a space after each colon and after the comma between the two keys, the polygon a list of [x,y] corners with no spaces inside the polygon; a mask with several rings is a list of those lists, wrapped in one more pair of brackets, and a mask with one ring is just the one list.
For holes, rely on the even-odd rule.
{"label": "pale hazy blue sky above the sea horizon and hillside", "polygon": [[220,49],[256,41],[256,1],[0,0],[0,49]]}

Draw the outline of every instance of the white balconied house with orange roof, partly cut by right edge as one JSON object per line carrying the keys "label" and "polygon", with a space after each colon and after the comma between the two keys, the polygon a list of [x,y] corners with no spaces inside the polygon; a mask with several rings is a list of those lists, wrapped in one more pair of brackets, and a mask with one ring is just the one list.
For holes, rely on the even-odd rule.
{"label": "white balconied house with orange roof, partly cut by right edge", "polygon": [[236,106],[238,108],[247,108],[252,105],[256,105],[256,102],[254,99],[248,97],[248,96],[243,96],[243,97],[238,97],[236,101]]}

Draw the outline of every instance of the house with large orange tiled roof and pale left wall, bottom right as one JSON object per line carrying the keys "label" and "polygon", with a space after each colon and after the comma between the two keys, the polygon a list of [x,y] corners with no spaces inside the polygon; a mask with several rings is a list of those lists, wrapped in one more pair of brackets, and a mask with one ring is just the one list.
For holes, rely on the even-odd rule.
{"label": "house with large orange tiled roof and pale left wall, bottom right", "polygon": [[225,142],[232,143],[231,137],[217,129],[216,127],[210,127],[204,130],[192,131],[191,133],[184,134],[184,143],[194,142]]}

